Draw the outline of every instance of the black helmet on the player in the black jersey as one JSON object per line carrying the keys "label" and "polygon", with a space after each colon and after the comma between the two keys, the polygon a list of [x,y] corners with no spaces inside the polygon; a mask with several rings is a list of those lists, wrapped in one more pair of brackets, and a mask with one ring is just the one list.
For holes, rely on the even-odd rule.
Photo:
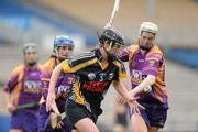
{"label": "black helmet on the player in the black jersey", "polygon": [[99,37],[101,44],[105,44],[105,41],[112,42],[112,45],[124,45],[124,36],[114,29],[106,29],[103,30],[102,34]]}

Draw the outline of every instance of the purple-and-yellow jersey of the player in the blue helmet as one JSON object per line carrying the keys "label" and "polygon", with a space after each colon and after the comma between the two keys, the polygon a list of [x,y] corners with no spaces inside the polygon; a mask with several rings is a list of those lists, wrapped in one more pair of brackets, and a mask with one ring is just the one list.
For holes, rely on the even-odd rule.
{"label": "purple-and-yellow jersey of the player in the blue helmet", "polygon": [[[50,79],[56,65],[55,57],[51,57],[42,67],[42,94],[45,99],[48,92]],[[72,74],[62,73],[59,75],[55,87],[56,98],[58,100],[56,101],[57,106],[63,106],[65,108],[65,99],[73,86],[73,79],[74,76]]]}

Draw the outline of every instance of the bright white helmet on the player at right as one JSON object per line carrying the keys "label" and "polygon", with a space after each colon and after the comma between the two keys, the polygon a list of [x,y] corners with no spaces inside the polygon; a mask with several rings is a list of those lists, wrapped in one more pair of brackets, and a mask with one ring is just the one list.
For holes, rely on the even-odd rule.
{"label": "bright white helmet on the player at right", "polygon": [[156,34],[158,31],[158,28],[156,24],[154,24],[152,22],[143,22],[140,26],[140,34],[142,33],[142,31],[146,31],[146,32]]}

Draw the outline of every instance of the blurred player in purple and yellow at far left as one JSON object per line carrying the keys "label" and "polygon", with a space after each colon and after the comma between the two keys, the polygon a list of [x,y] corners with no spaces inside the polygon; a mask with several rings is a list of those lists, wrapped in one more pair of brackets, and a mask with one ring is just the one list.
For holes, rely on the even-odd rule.
{"label": "blurred player in purple and yellow at far left", "polygon": [[36,132],[38,107],[18,109],[22,105],[37,102],[41,99],[41,67],[37,64],[35,44],[23,46],[24,64],[12,72],[4,85],[8,97],[7,109],[11,113],[10,132]]}

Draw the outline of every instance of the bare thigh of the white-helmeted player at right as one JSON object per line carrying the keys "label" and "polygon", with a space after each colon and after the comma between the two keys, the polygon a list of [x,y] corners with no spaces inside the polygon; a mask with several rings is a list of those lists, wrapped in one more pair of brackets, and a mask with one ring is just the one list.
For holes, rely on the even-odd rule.
{"label": "bare thigh of the white-helmeted player at right", "polygon": [[141,114],[133,113],[131,117],[133,132],[147,132],[146,123]]}

